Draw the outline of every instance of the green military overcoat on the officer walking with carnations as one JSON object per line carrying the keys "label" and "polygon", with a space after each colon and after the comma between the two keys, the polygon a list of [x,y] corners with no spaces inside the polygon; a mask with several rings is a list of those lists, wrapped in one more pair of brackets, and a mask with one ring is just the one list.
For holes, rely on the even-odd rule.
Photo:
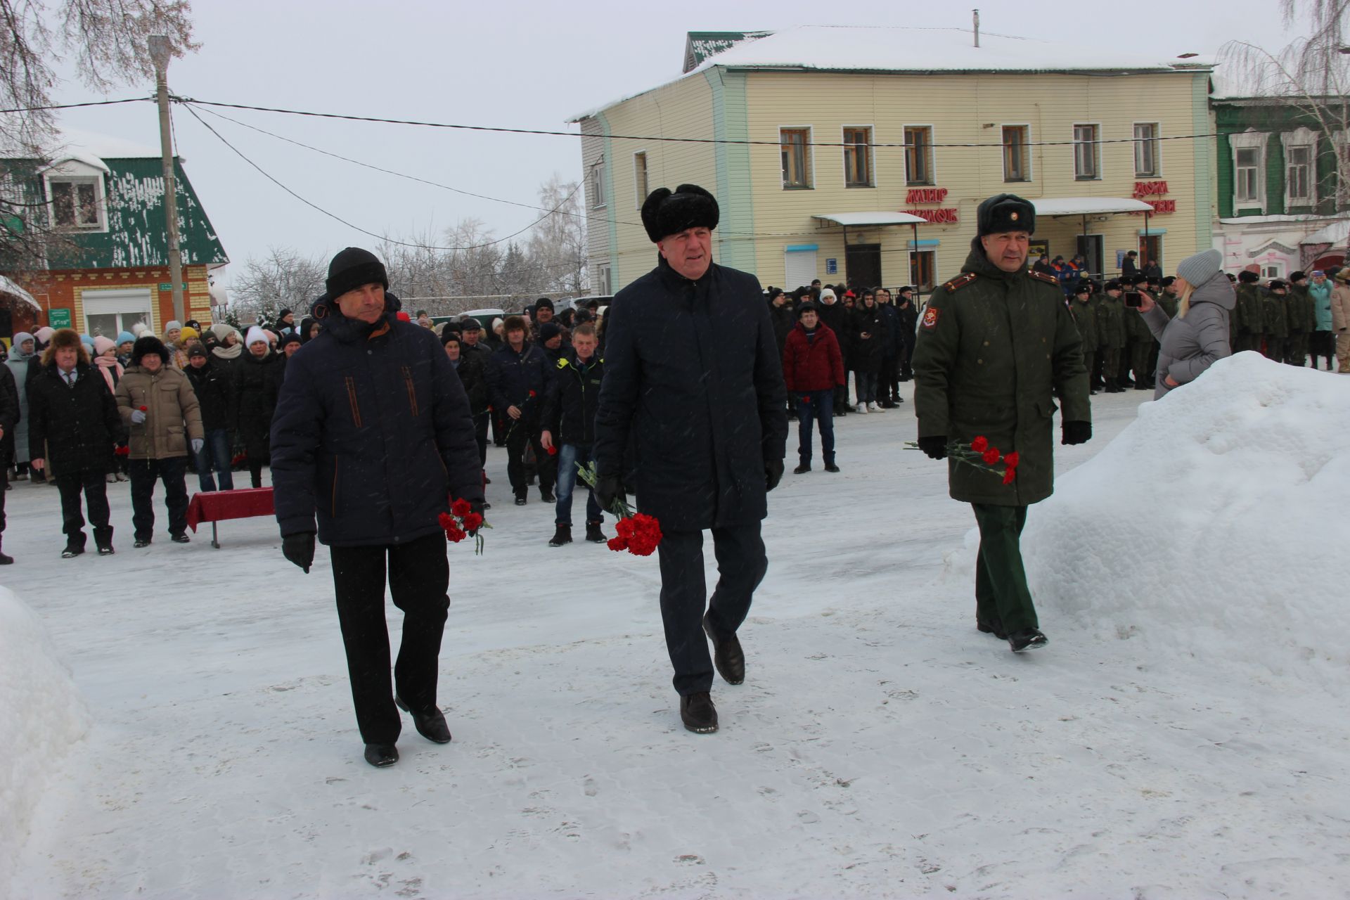
{"label": "green military overcoat on the officer walking with carnations", "polygon": [[1017,478],[949,459],[948,487],[967,503],[1026,506],[1054,486],[1054,397],[1064,421],[1091,421],[1079,329],[1053,277],[1004,273],[973,250],[963,274],[933,291],[914,348],[919,437],[977,436],[1017,451]]}

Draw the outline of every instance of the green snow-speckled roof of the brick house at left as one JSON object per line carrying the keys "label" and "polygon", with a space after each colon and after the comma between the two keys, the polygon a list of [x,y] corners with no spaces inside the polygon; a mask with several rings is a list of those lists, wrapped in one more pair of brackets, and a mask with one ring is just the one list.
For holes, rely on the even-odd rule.
{"label": "green snow-speckled roof of the brick house at left", "polygon": [[[89,157],[69,157],[88,161]],[[62,162],[57,157],[54,162]],[[108,171],[103,175],[107,197],[107,231],[62,231],[65,247],[53,246],[49,269],[138,269],[169,264],[169,237],[165,223],[163,165],[158,157],[100,157]],[[47,200],[39,174],[46,163],[31,159],[0,161],[26,184],[31,198]],[[22,173],[22,174],[20,174]],[[174,158],[174,186],[178,194],[178,239],[185,266],[219,266],[230,262],[216,229],[202,209],[197,192]],[[74,247],[74,250],[70,248]]]}

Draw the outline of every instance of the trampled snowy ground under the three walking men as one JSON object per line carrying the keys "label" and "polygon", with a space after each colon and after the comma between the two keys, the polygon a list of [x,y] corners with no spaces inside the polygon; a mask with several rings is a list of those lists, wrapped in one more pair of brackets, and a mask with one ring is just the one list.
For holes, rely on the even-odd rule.
{"label": "trampled snowy ground under the three walking men", "polygon": [[[1061,474],[1150,395],[1095,397]],[[717,681],[706,737],[679,725],[655,559],[545,546],[551,507],[512,506],[490,449],[487,555],[451,560],[455,739],[405,719],[387,770],[360,758],[325,556],[302,575],[263,519],[225,524],[220,551],[209,532],[132,551],[115,486],[117,555],[63,561],[54,488],[16,484],[0,579],[92,726],[11,896],[1347,896],[1343,667],[1272,673],[1203,637],[1160,652],[1057,604],[1050,646],[1014,656],[973,626],[969,507],[900,449],[911,403],[837,433],[842,474],[771,495],[747,683]],[[1084,567],[1142,549],[1104,541]],[[1288,564],[1343,598],[1345,564]],[[1335,641],[1350,614],[1323,607]]]}

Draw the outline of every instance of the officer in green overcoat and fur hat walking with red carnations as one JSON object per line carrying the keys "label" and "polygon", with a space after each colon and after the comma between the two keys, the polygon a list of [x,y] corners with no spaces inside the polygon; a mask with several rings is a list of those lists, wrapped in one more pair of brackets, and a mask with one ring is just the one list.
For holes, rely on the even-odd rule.
{"label": "officer in green overcoat and fur hat walking with red carnations", "polygon": [[[933,459],[948,444],[983,437],[1017,452],[1015,478],[948,460],[953,499],[975,507],[980,551],[975,619],[1014,652],[1042,646],[1022,568],[1026,507],[1054,484],[1054,397],[1064,444],[1092,437],[1088,374],[1079,329],[1052,275],[1027,271],[1035,209],[1013,194],[980,204],[977,236],[961,274],[929,298],[914,349],[914,412],[919,448]],[[1006,483],[1004,483],[1006,482]]]}

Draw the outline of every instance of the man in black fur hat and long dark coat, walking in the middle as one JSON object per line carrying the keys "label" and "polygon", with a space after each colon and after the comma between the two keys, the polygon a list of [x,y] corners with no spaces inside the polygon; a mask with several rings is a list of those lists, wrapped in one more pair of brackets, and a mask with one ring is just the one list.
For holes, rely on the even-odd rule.
{"label": "man in black fur hat and long dark coat, walking in the middle", "polygon": [[[717,201],[697,185],[660,188],[643,204],[660,256],[606,313],[594,445],[597,498],[609,509],[636,436],[639,510],[664,534],[662,619],[680,718],[697,733],[717,730],[705,631],[722,677],[745,677],[736,630],[768,568],[760,521],[765,493],[783,476],[787,439],[774,322],[753,275],[713,263],[717,220]],[[720,573],[711,602],[703,529],[713,532]]]}

